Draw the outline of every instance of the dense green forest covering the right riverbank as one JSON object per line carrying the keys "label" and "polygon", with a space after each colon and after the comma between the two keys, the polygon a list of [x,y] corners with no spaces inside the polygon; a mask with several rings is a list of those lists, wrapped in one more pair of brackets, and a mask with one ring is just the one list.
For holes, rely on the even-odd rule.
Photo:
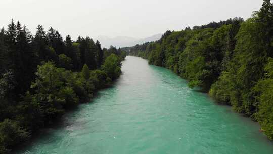
{"label": "dense green forest covering the right riverbank", "polygon": [[160,40],[126,48],[149,64],[166,67],[201,87],[219,103],[232,105],[273,139],[273,5],[246,21],[213,22],[167,31]]}

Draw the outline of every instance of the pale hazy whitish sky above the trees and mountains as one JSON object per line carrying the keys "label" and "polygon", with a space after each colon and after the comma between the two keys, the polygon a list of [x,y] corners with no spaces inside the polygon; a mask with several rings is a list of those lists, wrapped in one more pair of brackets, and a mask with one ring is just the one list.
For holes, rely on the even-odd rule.
{"label": "pale hazy whitish sky above the trees and mountains", "polygon": [[62,34],[96,38],[144,38],[233,17],[247,19],[262,0],[0,0],[0,26],[19,20],[33,33],[37,25]]}

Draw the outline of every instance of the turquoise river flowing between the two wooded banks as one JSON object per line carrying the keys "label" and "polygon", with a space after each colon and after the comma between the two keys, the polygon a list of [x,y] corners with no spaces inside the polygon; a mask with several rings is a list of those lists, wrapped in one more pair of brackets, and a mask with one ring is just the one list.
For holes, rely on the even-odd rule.
{"label": "turquoise river flowing between the two wooded banks", "polygon": [[127,56],[122,72],[18,153],[273,153],[257,123],[189,89],[170,70]]}

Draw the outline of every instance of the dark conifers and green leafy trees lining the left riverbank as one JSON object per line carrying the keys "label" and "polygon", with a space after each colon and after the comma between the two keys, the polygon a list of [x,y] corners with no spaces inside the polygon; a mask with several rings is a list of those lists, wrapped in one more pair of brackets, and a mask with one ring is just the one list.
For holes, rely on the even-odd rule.
{"label": "dark conifers and green leafy trees lining the left riverbank", "polygon": [[0,153],[9,153],[65,110],[87,102],[121,74],[125,52],[13,20],[0,31]]}

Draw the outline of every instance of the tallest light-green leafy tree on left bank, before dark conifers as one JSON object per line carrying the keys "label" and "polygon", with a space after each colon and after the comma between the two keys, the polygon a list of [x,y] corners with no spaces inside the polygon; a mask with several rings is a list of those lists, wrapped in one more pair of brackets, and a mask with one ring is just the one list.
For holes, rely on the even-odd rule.
{"label": "tallest light-green leafy tree on left bank, before dark conifers", "polygon": [[38,66],[36,80],[31,87],[36,89],[34,101],[39,103],[41,110],[50,122],[52,119],[63,114],[63,105],[65,99],[61,95],[61,90],[64,88],[64,81],[61,76],[64,69],[56,68],[52,62]]}

